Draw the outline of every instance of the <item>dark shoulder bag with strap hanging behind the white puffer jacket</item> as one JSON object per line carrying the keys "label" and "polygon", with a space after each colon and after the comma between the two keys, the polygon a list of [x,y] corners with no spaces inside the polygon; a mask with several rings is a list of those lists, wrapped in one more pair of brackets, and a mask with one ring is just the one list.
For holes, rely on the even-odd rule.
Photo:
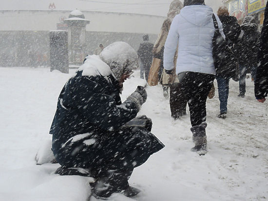
{"label": "dark shoulder bag with strap hanging behind the white puffer jacket", "polygon": [[215,33],[212,39],[212,56],[217,77],[231,78],[235,75],[237,59],[222,37],[215,15],[212,16]]}

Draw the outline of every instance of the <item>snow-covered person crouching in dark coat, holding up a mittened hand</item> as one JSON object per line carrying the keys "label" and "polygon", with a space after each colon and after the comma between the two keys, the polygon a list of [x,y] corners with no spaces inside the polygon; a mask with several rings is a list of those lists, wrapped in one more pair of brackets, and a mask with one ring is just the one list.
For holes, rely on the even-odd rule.
{"label": "snow-covered person crouching in dark coat, holding up a mittened hand", "polygon": [[125,42],[112,43],[99,56],[87,56],[58,97],[50,129],[61,165],[57,172],[88,172],[96,179],[91,191],[98,198],[115,192],[136,195],[139,190],[128,183],[133,169],[164,147],[150,132],[151,119],[135,118],[147,99],[144,87],[121,102],[123,82],[136,67],[134,49]]}

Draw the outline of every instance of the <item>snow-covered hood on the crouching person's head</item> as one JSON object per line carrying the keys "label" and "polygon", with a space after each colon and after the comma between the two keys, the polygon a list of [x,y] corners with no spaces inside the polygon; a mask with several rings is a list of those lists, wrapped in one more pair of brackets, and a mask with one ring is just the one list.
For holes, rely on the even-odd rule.
{"label": "snow-covered hood on the crouching person's head", "polygon": [[110,66],[117,80],[127,71],[139,67],[136,51],[126,42],[114,42],[99,54],[101,60]]}

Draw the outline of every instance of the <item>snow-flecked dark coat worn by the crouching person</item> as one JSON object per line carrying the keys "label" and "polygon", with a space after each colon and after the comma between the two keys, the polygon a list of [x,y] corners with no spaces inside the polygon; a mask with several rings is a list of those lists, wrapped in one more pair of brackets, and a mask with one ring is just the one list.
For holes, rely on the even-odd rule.
{"label": "snow-flecked dark coat worn by the crouching person", "polygon": [[[89,65],[86,70],[92,69]],[[140,106],[131,98],[121,103],[112,74],[102,76],[98,71],[88,76],[83,71],[77,71],[60,92],[50,129],[61,166],[131,170],[164,147],[151,128],[123,126],[136,117]]]}

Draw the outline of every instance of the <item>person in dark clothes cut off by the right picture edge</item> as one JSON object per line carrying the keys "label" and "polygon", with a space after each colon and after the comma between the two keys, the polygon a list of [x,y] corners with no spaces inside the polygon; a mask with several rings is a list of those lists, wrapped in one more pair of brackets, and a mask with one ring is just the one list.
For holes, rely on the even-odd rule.
{"label": "person in dark clothes cut off by the right picture edge", "polygon": [[268,3],[265,8],[259,47],[255,97],[259,102],[264,102],[268,94]]}

